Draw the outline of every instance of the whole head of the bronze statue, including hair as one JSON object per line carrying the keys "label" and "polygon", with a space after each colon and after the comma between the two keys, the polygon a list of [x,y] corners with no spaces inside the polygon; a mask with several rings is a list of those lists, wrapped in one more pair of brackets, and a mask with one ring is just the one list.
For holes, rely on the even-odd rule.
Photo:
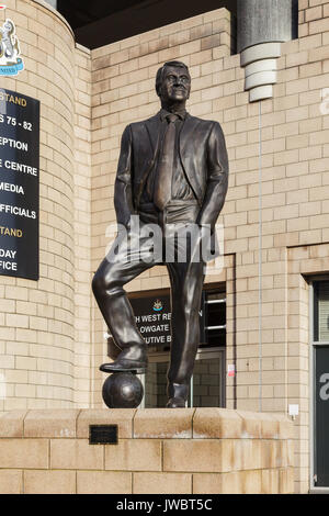
{"label": "whole head of the bronze statue, including hair", "polygon": [[158,69],[156,90],[162,105],[185,103],[191,91],[191,76],[184,63],[172,60]]}

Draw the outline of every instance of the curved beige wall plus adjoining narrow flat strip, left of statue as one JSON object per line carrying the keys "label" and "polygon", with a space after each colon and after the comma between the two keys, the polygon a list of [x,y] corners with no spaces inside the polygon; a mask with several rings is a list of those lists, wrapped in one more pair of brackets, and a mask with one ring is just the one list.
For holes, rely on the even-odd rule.
{"label": "curved beige wall plus adjoining narrow flat strip, left of statue", "polygon": [[41,277],[0,278],[0,411],[89,406],[90,53],[42,0],[5,5],[25,69],[1,88],[41,101]]}

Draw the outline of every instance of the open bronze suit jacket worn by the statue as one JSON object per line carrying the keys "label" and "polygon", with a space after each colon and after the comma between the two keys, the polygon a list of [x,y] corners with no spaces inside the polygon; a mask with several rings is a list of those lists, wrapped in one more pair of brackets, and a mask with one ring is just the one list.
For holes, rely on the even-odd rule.
{"label": "open bronze suit jacket worn by the statue", "polygon": [[[139,201],[149,172],[157,162],[160,113],[128,125],[122,136],[115,181],[117,222],[127,225],[138,214]],[[179,156],[185,177],[200,204],[195,221],[214,227],[223,207],[228,182],[225,138],[218,122],[186,113],[179,138]]]}

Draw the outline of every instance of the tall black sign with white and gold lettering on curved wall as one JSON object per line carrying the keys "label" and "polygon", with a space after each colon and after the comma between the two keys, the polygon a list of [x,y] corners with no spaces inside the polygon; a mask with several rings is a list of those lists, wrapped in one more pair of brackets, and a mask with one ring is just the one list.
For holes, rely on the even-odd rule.
{"label": "tall black sign with white and gold lettering on curved wall", "polygon": [[38,280],[39,101],[0,89],[0,274]]}

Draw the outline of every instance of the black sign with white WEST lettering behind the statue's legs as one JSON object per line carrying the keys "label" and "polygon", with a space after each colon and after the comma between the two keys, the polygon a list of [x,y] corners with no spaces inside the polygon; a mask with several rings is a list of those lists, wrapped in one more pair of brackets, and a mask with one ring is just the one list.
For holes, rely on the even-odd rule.
{"label": "black sign with white WEST lettering behind the statue's legs", "polygon": [[[170,296],[159,295],[150,298],[129,299],[136,318],[137,327],[149,346],[170,346],[171,306]],[[204,343],[204,295],[200,309],[200,341]]]}

